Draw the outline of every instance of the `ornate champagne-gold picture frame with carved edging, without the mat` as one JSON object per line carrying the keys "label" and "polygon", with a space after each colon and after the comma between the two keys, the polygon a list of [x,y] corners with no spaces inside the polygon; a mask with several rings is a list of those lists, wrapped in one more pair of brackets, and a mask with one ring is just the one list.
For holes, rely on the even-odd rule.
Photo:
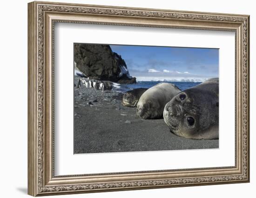
{"label": "ornate champagne-gold picture frame with carved edging, without the mat", "polygon": [[[54,176],[54,22],[234,31],[235,166]],[[28,194],[249,182],[249,16],[52,2],[28,4]]]}

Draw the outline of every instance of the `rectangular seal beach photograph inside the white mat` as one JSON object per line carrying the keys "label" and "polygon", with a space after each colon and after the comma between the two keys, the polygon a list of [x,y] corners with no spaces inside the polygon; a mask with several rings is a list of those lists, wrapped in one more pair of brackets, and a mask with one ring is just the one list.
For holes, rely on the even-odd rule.
{"label": "rectangular seal beach photograph inside the white mat", "polygon": [[74,154],[219,147],[219,50],[74,43]]}

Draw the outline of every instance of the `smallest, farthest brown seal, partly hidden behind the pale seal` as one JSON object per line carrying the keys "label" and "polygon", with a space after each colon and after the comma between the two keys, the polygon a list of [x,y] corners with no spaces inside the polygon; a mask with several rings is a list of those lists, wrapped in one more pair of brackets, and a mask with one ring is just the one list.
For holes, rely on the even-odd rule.
{"label": "smallest, farthest brown seal, partly hidden behind the pale seal", "polygon": [[138,88],[127,91],[122,98],[122,104],[126,107],[136,107],[141,95],[148,88]]}

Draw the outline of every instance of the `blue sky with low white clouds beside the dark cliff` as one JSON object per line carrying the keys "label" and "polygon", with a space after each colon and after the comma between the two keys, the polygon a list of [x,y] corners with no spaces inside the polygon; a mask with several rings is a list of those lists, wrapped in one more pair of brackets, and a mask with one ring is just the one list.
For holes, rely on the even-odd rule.
{"label": "blue sky with low white clouds beside the dark cliff", "polygon": [[219,76],[219,50],[210,48],[110,45],[137,80],[207,79]]}

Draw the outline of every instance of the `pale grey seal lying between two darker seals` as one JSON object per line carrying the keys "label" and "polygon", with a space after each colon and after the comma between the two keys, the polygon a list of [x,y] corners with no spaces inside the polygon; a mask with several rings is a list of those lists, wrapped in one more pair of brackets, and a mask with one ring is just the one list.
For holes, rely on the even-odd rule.
{"label": "pale grey seal lying between two darker seals", "polygon": [[167,102],[181,90],[172,83],[158,83],[145,91],[137,104],[136,113],[141,119],[159,119]]}

